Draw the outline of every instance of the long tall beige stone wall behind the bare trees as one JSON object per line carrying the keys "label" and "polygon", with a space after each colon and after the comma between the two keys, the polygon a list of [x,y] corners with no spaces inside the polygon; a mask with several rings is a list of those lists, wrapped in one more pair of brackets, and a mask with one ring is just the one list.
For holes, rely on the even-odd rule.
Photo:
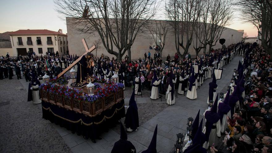
{"label": "long tall beige stone wall behind the bare trees", "polygon": [[[77,54],[77,55],[82,55],[83,53],[85,53],[85,48],[83,46],[82,43],[82,39],[85,38],[87,45],[89,46],[89,48],[91,48],[91,46],[94,44],[95,40],[98,40],[100,37],[99,36],[88,36],[82,32],[78,32],[77,30],[75,30],[76,28],[79,28],[80,25],[75,25],[71,22],[69,22],[71,20],[71,18],[66,18],[66,25],[67,25],[67,32],[68,32],[68,42],[69,42],[69,53],[70,54]],[[170,56],[174,56],[174,54],[176,53],[176,48],[175,48],[175,37],[174,37],[174,33],[172,32],[173,30],[171,29],[171,27],[168,30],[168,33],[166,35],[166,43],[165,43],[165,47],[164,50],[162,52],[162,57],[167,57],[168,54],[170,54]],[[134,44],[131,48],[131,58],[132,59],[138,59],[139,57],[144,57],[144,53],[148,53],[149,50],[149,45],[153,46],[155,45],[155,42],[152,38],[152,35],[149,31],[145,31],[143,33],[141,33],[142,36],[137,36]],[[230,28],[226,28],[220,39],[224,38],[226,39],[226,42],[224,45],[228,46],[230,44],[233,43],[237,43],[241,40],[243,35],[243,32],[238,32],[237,30],[234,29],[230,29]],[[186,43],[186,41],[184,42]],[[103,44],[101,43],[101,48],[97,50],[97,55],[101,55],[102,53],[104,55],[107,55],[108,57],[115,57],[112,54],[109,54]],[[114,45],[113,45],[114,46]],[[207,46],[208,49],[209,46]],[[214,49],[218,49],[221,48],[222,45],[219,44],[219,41],[217,42],[217,44],[215,46],[213,46]],[[115,49],[113,47],[113,49]],[[182,48],[180,47],[181,53],[183,53]],[[116,51],[116,50],[115,50]],[[155,51],[151,50],[151,57],[154,56]],[[193,49],[193,42],[192,45],[189,47],[189,53],[192,55],[192,57],[195,57],[195,50]],[[201,55],[203,53],[203,50],[199,53],[199,55]],[[93,52],[93,54],[96,54],[96,50]],[[127,53],[125,53],[126,55]],[[125,57],[125,55],[123,57]]]}

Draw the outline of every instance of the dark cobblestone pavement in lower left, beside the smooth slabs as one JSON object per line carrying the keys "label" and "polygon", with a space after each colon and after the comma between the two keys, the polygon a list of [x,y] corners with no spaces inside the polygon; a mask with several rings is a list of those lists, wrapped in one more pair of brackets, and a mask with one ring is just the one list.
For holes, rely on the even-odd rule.
{"label": "dark cobblestone pavement in lower left, beside the smooth slabs", "polygon": [[0,152],[71,152],[42,119],[41,104],[27,102],[27,90],[13,78],[0,80]]}

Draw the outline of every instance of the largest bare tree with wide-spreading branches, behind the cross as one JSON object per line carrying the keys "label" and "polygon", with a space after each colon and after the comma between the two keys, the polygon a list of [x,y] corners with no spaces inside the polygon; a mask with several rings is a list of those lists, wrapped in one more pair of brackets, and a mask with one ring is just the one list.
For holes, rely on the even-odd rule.
{"label": "largest bare tree with wide-spreading branches, behind the cross", "polygon": [[159,5],[156,0],[54,0],[57,11],[70,17],[76,30],[100,36],[108,53],[121,60]]}

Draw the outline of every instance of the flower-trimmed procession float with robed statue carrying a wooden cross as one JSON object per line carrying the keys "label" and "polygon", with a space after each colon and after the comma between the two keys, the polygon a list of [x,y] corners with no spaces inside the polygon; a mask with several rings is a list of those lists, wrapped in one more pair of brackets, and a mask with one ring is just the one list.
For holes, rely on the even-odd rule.
{"label": "flower-trimmed procession float with robed statue carrying a wooden cross", "polygon": [[[55,78],[45,74],[40,85],[43,118],[92,139],[125,116],[124,84],[118,83],[117,74],[111,80],[92,74],[89,55],[94,49],[86,49],[87,54]],[[76,76],[74,66],[78,66]],[[69,70],[71,76],[64,75]]]}

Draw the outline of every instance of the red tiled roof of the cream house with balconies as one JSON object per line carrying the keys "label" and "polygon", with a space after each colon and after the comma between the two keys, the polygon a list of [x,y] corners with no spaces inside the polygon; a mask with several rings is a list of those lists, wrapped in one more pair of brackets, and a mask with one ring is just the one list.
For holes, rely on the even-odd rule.
{"label": "red tiled roof of the cream house with balconies", "polygon": [[51,31],[51,30],[18,30],[15,32],[11,32],[9,35],[63,35],[67,36],[66,34]]}

